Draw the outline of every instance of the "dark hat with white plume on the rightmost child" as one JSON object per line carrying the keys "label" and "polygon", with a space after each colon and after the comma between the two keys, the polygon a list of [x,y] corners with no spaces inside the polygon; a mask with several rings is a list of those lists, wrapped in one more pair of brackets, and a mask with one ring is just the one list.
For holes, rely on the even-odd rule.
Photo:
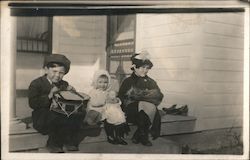
{"label": "dark hat with white plume on the rightmost child", "polygon": [[136,67],[141,67],[144,65],[148,65],[149,68],[153,67],[153,63],[150,61],[150,55],[147,51],[141,51],[140,53],[135,53],[131,57],[132,64],[136,65]]}

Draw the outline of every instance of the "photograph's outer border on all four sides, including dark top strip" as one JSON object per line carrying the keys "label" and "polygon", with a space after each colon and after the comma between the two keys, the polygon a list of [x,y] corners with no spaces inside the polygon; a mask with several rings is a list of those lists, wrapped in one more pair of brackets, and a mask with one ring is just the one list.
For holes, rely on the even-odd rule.
{"label": "photograph's outer border on all four sides, including dark top strip", "polygon": [[[5,1],[1,4],[1,156],[2,159],[248,159],[249,158],[249,3],[244,1],[219,0],[219,1],[167,1],[167,0],[95,0],[95,1]],[[46,6],[46,5],[48,6]],[[58,5],[61,4],[61,5]],[[79,4],[81,4],[79,6]],[[112,5],[111,5],[112,4]],[[78,7],[77,7],[78,5]],[[106,9],[105,9],[106,8]],[[122,12],[121,8],[124,8]],[[172,8],[172,9],[171,9]],[[14,11],[13,11],[14,10]],[[57,10],[57,12],[56,12]],[[10,153],[9,152],[9,125],[10,109],[6,106],[13,105],[12,96],[15,89],[15,77],[12,72],[15,69],[15,61],[10,52],[11,48],[11,23],[12,16],[39,16],[54,14],[66,15],[65,10],[70,11],[70,15],[85,14],[125,14],[134,13],[179,13],[183,10],[198,13],[219,12],[219,11],[242,11],[244,10],[244,104],[243,104],[243,155],[172,155],[172,154],[47,154],[47,153]],[[82,12],[85,10],[86,12]],[[104,12],[103,12],[104,11]],[[105,12],[106,11],[106,12]],[[138,12],[137,12],[138,13]],[[68,15],[68,14],[67,14]]]}

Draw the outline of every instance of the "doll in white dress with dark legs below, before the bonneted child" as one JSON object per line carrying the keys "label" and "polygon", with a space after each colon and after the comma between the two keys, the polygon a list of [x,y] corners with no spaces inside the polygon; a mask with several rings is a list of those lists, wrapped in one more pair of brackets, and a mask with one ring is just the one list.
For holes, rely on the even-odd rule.
{"label": "doll in white dress with dark legs below, before the bonneted child", "polygon": [[124,134],[128,134],[129,127],[120,105],[121,101],[116,97],[116,93],[110,91],[107,94],[106,104],[104,106],[104,129],[109,143],[127,145],[128,143],[124,141],[123,138]]}

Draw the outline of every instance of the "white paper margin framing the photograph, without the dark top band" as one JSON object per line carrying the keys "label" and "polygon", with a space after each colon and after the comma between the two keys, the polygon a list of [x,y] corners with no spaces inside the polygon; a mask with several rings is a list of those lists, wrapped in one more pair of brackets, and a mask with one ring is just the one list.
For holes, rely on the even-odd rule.
{"label": "white paper margin framing the photograph, without the dark top band", "polygon": [[[43,1],[43,2],[51,2],[51,1]],[[57,1],[58,2],[58,1]],[[60,1],[65,3],[74,3],[69,1]],[[83,1],[83,3],[87,3],[93,1]],[[79,1],[75,1],[75,3],[79,3]],[[248,159],[249,158],[249,6],[243,3],[239,3],[236,1],[228,0],[227,5],[221,4],[221,1],[94,1],[94,3],[116,3],[116,4],[157,4],[157,7],[166,7],[166,8],[214,8],[214,7],[222,7],[222,8],[234,8],[234,7],[243,7],[245,8],[245,24],[244,24],[244,120],[243,120],[243,128],[244,128],[244,154],[241,155],[169,155],[169,154],[85,154],[85,153],[74,153],[74,154],[51,154],[51,153],[9,153],[9,109],[6,106],[9,106],[12,102],[10,101],[10,97],[8,97],[11,93],[9,92],[10,86],[8,85],[10,82],[10,70],[12,62],[11,56],[9,54],[10,51],[10,33],[11,26],[7,26],[6,24],[10,24],[9,21],[4,16],[8,16],[10,13],[9,8],[7,7],[8,2],[1,3],[1,149],[2,149],[2,159],[30,159],[30,160],[40,160],[40,159],[141,159],[141,160],[165,160],[165,159]],[[206,5],[204,5],[204,3]],[[9,40],[9,41],[8,41]]]}

